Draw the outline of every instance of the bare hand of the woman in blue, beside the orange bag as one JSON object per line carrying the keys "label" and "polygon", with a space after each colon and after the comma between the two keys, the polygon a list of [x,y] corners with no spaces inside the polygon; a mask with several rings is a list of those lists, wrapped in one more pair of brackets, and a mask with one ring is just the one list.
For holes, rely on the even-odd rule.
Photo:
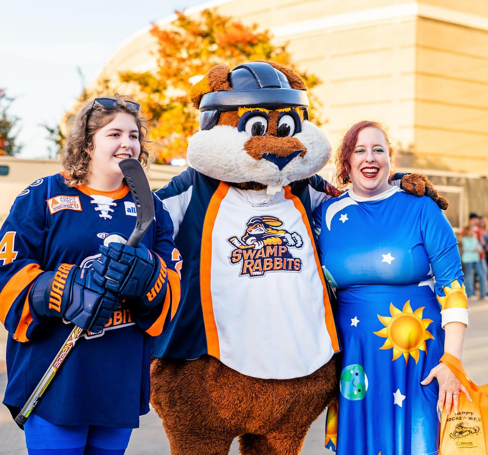
{"label": "bare hand of the woman in blue, beside the orange bag", "polygon": [[466,387],[461,384],[459,379],[452,373],[449,367],[444,363],[439,363],[436,367],[430,370],[428,376],[421,382],[422,385],[427,385],[432,382],[434,377],[439,384],[439,401],[437,406],[442,411],[444,404],[446,404],[447,414],[451,412],[452,405],[454,405],[454,414],[457,414],[459,409],[459,394],[463,392],[469,401],[473,401],[469,395]]}

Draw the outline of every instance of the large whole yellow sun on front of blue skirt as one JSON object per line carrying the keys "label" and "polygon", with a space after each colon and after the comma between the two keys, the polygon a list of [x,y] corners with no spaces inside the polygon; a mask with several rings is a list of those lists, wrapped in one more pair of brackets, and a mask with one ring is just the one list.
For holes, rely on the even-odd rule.
{"label": "large whole yellow sun on front of blue skirt", "polygon": [[403,354],[406,365],[410,356],[417,363],[420,351],[427,352],[426,340],[434,339],[434,337],[427,330],[432,319],[422,319],[424,308],[420,307],[414,312],[410,306],[410,300],[408,300],[402,311],[396,308],[393,303],[390,303],[391,317],[377,315],[385,328],[373,333],[387,338],[380,349],[392,348],[392,361]]}

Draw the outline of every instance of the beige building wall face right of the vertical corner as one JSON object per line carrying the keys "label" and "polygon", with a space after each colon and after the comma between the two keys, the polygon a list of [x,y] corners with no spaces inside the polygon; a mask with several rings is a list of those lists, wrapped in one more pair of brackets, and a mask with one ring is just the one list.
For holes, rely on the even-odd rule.
{"label": "beige building wall face right of the vertical corner", "polygon": [[415,164],[486,175],[488,29],[419,18],[415,92]]}

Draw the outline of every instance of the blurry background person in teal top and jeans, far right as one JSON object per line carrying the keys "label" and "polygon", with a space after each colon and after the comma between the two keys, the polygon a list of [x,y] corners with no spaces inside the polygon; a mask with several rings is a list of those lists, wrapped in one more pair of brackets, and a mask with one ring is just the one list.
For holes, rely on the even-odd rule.
{"label": "blurry background person in teal top and jeans, far right", "polygon": [[[471,220],[471,219],[470,219]],[[468,297],[474,294],[475,273],[480,277],[480,299],[485,298],[487,294],[485,267],[483,261],[480,260],[480,253],[483,251],[477,231],[471,224],[464,229],[464,236],[462,239],[463,255],[461,257],[465,270],[466,293]]]}

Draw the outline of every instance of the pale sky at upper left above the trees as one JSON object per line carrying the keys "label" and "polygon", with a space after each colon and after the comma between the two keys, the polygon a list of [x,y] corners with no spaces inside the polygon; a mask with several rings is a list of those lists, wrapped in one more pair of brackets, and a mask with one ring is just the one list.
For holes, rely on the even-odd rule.
{"label": "pale sky at upper left above the trees", "polygon": [[0,2],[0,88],[15,98],[20,158],[48,158],[56,126],[120,44],[175,10],[203,0],[19,0]]}

